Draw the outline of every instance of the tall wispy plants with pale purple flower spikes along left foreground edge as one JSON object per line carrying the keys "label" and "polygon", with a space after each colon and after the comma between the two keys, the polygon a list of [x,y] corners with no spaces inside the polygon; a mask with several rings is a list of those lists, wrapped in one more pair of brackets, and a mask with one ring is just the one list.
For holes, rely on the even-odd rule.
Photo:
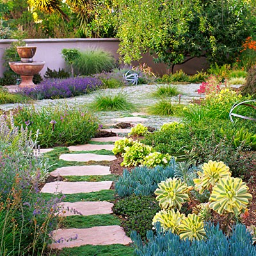
{"label": "tall wispy plants with pale purple flower spikes along left foreground edge", "polygon": [[57,228],[60,200],[40,193],[50,166],[35,147],[27,127],[0,116],[0,255],[43,255]]}

